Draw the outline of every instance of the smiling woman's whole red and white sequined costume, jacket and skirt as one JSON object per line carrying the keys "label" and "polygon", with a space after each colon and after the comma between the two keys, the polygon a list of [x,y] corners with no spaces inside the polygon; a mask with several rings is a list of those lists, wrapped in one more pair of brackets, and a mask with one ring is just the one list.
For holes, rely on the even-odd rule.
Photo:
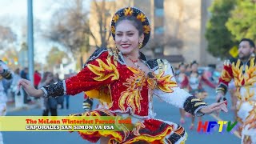
{"label": "smiling woman's whole red and white sequined costume, jacket and skirt", "polygon": [[133,143],[140,140],[156,143],[182,143],[186,131],[173,122],[154,119],[153,94],[190,114],[202,115],[198,110],[206,106],[198,98],[178,87],[170,63],[166,60],[147,60],[140,53],[142,62],[153,72],[126,65],[122,53],[110,49],[98,49],[92,54],[84,69],[76,76],[43,87],[46,97],[78,94],[86,91],[89,97],[98,98],[103,106],[83,115],[130,115],[134,130],[79,134],[90,142],[98,142],[101,136],[109,136],[110,142]]}

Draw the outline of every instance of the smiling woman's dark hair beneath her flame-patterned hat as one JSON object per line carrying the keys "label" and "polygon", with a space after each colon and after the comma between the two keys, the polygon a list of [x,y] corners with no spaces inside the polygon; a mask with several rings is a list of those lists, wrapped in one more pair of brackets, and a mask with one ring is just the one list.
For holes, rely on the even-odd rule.
{"label": "smiling woman's dark hair beneath her flame-patterned hat", "polygon": [[134,25],[134,27],[138,30],[138,34],[142,35],[143,34],[143,26],[142,26],[142,22],[140,22],[137,18],[135,18],[134,16],[125,16],[125,17],[121,17],[118,19],[118,21],[115,23],[115,27],[118,26],[119,22],[122,22],[123,20],[128,20],[130,22],[132,22],[132,24]]}

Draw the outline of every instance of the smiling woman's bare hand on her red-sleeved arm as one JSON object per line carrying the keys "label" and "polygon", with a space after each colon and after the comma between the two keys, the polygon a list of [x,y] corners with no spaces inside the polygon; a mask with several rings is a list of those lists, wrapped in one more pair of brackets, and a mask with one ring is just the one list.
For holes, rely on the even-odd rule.
{"label": "smiling woman's bare hand on her red-sleeved arm", "polygon": [[26,91],[26,94],[29,94],[32,97],[40,97],[43,95],[42,90],[36,90],[34,86],[31,84],[31,82],[26,79],[21,79],[18,82],[18,90],[20,89],[21,86]]}

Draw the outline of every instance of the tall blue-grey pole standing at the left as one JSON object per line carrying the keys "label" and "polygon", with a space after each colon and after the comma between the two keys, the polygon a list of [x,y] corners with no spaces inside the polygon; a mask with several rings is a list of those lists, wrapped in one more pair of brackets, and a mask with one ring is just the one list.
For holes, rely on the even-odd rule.
{"label": "tall blue-grey pole standing at the left", "polygon": [[34,36],[33,36],[33,0],[27,0],[27,44],[29,56],[29,78],[34,86]]}

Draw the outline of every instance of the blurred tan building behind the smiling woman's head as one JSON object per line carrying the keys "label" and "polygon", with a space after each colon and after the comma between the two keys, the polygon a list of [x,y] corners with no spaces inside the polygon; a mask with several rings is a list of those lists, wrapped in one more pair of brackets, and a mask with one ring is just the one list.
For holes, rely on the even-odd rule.
{"label": "blurred tan building behind the smiling woman's head", "polygon": [[[98,1],[100,5],[102,1]],[[110,32],[110,21],[116,10],[124,6],[135,6],[142,10],[150,19],[150,42],[143,52],[150,58],[166,58],[170,62],[192,62],[197,60],[202,65],[217,63],[207,51],[205,38],[206,22],[210,17],[207,11],[212,0],[118,0],[106,1],[105,23],[102,29]],[[102,39],[95,3],[91,2],[90,27],[96,33],[96,39]],[[103,13],[103,12],[102,12]],[[95,23],[96,22],[96,23]],[[98,34],[98,35],[97,35]],[[90,46],[95,45],[95,38],[90,38]],[[112,38],[108,45],[114,47]],[[100,43],[100,42],[99,42]],[[100,45],[98,43],[98,45]],[[90,54],[89,54],[90,55]]]}

